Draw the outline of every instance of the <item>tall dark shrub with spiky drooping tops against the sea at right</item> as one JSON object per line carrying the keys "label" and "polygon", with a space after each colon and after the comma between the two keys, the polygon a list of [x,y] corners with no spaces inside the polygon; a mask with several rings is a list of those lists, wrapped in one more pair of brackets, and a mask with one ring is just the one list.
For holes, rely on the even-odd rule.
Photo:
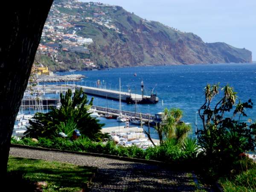
{"label": "tall dark shrub with spiky drooping tops against the sea at right", "polygon": [[[254,150],[256,146],[256,124],[247,125],[241,122],[241,116],[245,114],[246,108],[252,108],[253,103],[248,102],[235,105],[236,92],[230,86],[225,86],[223,97],[212,106],[212,100],[219,93],[217,85],[205,87],[205,102],[199,109],[204,128],[198,131],[198,143],[203,149],[201,154],[204,171],[208,175],[218,176],[229,174],[234,169],[239,155],[244,151]],[[233,116],[228,117],[226,113],[233,107]]]}

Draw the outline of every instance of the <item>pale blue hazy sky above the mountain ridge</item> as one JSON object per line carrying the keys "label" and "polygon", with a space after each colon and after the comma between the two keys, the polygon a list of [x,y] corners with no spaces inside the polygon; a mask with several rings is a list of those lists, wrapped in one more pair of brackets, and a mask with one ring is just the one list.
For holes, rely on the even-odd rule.
{"label": "pale blue hazy sky above the mountain ridge", "polygon": [[147,20],[193,32],[207,43],[225,42],[249,49],[256,60],[256,0],[91,1],[122,6]]}

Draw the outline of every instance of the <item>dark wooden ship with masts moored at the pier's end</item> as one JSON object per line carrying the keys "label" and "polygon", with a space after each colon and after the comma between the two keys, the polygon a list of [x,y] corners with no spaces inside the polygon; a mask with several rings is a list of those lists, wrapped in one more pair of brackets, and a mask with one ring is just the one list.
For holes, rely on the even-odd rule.
{"label": "dark wooden ship with masts moored at the pier's end", "polygon": [[154,88],[151,90],[151,95],[150,96],[145,96],[144,95],[144,83],[143,81],[141,81],[141,98],[140,99],[134,99],[131,96],[131,89],[129,88],[129,93],[130,93],[130,97],[126,98],[126,103],[127,104],[155,104],[159,101],[158,97],[157,97],[157,93],[154,93]]}

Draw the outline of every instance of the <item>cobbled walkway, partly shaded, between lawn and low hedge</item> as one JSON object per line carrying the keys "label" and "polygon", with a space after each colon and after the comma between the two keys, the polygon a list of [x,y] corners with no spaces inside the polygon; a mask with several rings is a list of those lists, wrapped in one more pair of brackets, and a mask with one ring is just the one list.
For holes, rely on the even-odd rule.
{"label": "cobbled walkway, partly shaded, between lawn and low hedge", "polygon": [[[192,177],[191,173],[171,171],[160,166],[114,160],[105,157],[14,147],[10,149],[10,155],[98,167],[96,178],[94,178],[90,186],[90,191],[94,192],[190,192],[196,190],[195,177]],[[212,191],[209,187],[204,187],[204,190]]]}

